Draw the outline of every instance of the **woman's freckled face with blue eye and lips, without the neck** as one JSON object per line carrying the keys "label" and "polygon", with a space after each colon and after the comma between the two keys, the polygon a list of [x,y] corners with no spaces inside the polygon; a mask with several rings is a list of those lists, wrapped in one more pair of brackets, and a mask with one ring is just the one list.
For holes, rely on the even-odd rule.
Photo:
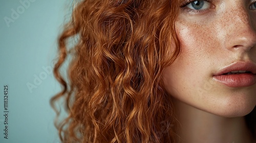
{"label": "woman's freckled face with blue eye and lips, without the neck", "polygon": [[256,1],[188,1],[176,30],[182,52],[164,69],[167,92],[213,114],[248,114],[256,103]]}

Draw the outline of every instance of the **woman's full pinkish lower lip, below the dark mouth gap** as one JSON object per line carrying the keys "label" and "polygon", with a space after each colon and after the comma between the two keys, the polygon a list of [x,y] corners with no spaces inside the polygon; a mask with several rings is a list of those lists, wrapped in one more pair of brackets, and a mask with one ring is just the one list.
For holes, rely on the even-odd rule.
{"label": "woman's full pinkish lower lip, below the dark mouth gap", "polygon": [[256,75],[254,74],[233,74],[214,76],[217,81],[229,87],[245,87],[256,83]]}

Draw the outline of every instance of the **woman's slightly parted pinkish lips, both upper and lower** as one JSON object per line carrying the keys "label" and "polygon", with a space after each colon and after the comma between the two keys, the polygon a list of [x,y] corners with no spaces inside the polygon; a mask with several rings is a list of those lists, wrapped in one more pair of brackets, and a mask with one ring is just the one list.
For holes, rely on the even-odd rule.
{"label": "woman's slightly parted pinkish lips, both upper and lower", "polygon": [[[246,70],[251,73],[224,75],[236,70]],[[251,86],[256,83],[256,65],[252,62],[232,63],[222,68],[213,77],[216,81],[219,81],[229,87]]]}

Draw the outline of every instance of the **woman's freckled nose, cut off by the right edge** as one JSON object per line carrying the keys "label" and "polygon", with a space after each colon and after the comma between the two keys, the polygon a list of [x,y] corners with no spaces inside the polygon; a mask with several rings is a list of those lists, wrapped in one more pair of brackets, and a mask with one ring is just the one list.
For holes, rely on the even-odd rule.
{"label": "woman's freckled nose, cut off by the right edge", "polygon": [[225,38],[227,49],[250,51],[252,47],[255,47],[256,15],[253,11],[245,6],[234,6],[231,11],[226,12],[228,14],[225,14],[228,20]]}

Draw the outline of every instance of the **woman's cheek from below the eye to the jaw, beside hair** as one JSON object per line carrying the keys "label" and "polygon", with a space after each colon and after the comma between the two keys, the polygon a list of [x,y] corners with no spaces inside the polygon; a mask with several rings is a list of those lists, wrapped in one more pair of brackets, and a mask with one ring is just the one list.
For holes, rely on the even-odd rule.
{"label": "woman's cheek from below the eye to the jaw, beside hair", "polygon": [[[181,22],[184,23],[184,22]],[[199,27],[191,23],[177,24],[177,35],[181,42],[181,54],[163,72],[163,81],[166,91],[172,96],[181,100],[187,99],[189,94],[202,94],[205,85],[211,78],[211,65],[215,64],[215,47],[218,40],[214,33],[209,35],[209,31],[214,28]],[[215,62],[214,62],[215,61]],[[190,100],[198,100],[198,97],[189,97]],[[203,98],[203,97],[201,97]]]}

